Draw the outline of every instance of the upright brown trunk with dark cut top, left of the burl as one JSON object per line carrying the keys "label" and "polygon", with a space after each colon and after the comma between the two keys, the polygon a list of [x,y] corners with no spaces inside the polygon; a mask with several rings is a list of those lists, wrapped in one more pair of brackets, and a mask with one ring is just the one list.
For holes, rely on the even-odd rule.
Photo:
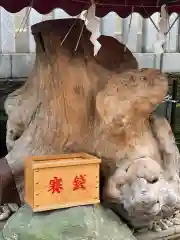
{"label": "upright brown trunk with dark cut top, left of the burl", "polygon": [[[23,201],[23,161],[27,155],[91,148],[95,97],[112,74],[137,68],[132,53],[111,37],[93,57],[90,32],[74,19],[53,20],[32,27],[36,41],[34,71],[24,86],[8,96],[6,156]],[[110,48],[110,50],[109,50]],[[16,177],[18,176],[18,177]]]}

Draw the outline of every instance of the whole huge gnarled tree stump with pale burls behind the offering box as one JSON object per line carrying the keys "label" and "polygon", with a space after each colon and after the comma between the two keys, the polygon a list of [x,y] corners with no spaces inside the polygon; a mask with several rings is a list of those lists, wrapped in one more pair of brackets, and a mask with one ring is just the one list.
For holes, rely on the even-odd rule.
{"label": "whole huge gnarled tree stump with pale burls behind the offering box", "polygon": [[99,38],[94,56],[87,29],[79,40],[82,20],[64,40],[73,23],[32,27],[34,71],[5,102],[9,152],[1,161],[1,188],[11,190],[11,202],[23,202],[25,156],[84,151],[102,159],[102,201],[132,227],[179,224],[179,151],[167,120],[153,113],[166,95],[166,75],[138,70],[132,53],[112,37]]}

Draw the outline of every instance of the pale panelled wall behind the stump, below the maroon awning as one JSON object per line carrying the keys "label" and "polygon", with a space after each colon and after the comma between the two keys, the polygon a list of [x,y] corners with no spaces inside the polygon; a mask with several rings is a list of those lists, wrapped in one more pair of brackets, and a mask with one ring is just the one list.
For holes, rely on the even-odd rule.
{"label": "pale panelled wall behind the stump, below the maroon awning", "polygon": [[[170,16],[170,25],[178,15]],[[56,9],[48,15],[40,15],[28,8],[11,14],[0,8],[0,78],[27,77],[31,71],[35,56],[35,43],[31,35],[31,25],[47,19],[69,17],[63,10]],[[102,34],[117,38],[127,44],[137,58],[140,67],[160,68],[160,58],[153,53],[157,30],[150,19],[139,14],[121,19],[115,13],[109,13],[101,19]],[[152,15],[157,24],[159,13]],[[24,20],[24,24],[22,24]],[[173,25],[167,36],[166,52],[163,55],[163,71],[180,72],[179,20]],[[18,32],[20,30],[20,32]]]}

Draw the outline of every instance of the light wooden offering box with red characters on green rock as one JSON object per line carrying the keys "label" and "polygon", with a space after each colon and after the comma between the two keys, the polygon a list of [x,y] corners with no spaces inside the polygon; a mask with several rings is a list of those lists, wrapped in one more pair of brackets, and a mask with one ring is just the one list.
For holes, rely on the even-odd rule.
{"label": "light wooden offering box with red characters on green rock", "polygon": [[99,203],[101,160],[85,154],[25,159],[25,201],[34,212]]}

